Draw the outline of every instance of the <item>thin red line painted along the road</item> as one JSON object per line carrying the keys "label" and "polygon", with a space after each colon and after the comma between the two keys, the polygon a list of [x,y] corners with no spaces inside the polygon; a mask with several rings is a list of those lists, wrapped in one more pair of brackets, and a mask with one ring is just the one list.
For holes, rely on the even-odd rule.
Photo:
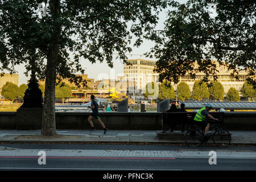
{"label": "thin red line painted along the road", "polygon": [[[34,158],[39,158],[40,156],[0,156],[0,158],[27,158],[27,159],[34,159]],[[150,158],[150,157],[83,157],[83,156],[46,156],[46,159],[158,159],[158,160],[173,160],[175,158]]]}

